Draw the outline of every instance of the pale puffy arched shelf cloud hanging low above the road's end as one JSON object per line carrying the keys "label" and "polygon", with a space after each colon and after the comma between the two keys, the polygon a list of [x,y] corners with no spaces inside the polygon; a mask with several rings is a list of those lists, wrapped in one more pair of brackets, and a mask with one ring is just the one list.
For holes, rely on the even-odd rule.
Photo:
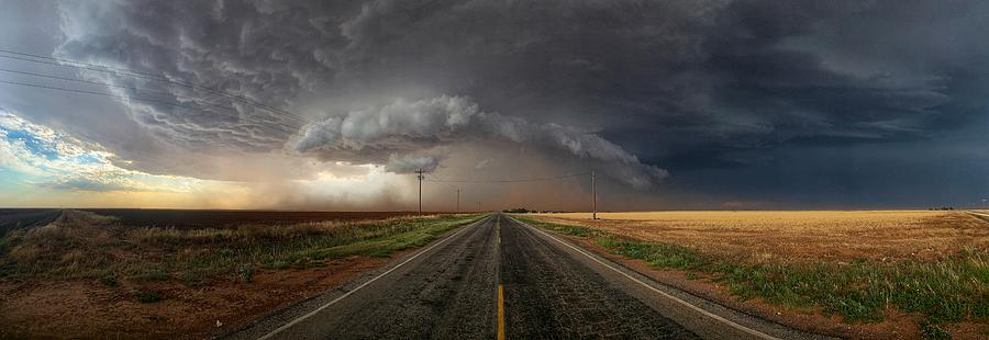
{"label": "pale puffy arched shelf cloud hanging low above the road's end", "polygon": [[[534,124],[519,117],[484,112],[465,97],[441,95],[408,101],[398,99],[380,107],[353,111],[312,124],[296,141],[300,152],[330,155],[396,155],[437,145],[485,140],[524,144],[545,152],[566,154],[607,167],[609,174],[636,188],[648,188],[667,172],[643,165],[635,155],[597,134],[558,124]],[[435,168],[438,160],[420,156],[395,158],[389,171]]]}

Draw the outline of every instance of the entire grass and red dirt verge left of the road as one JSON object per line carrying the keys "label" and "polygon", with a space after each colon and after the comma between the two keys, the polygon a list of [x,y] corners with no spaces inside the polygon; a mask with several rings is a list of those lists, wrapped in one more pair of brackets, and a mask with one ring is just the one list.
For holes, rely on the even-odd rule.
{"label": "entire grass and red dirt verge left of the road", "polygon": [[212,338],[480,218],[300,213],[330,220],[279,225],[257,222],[288,213],[222,212],[216,227],[187,227],[184,216],[216,214],[168,213],[184,227],[65,211],[0,229],[0,339]]}

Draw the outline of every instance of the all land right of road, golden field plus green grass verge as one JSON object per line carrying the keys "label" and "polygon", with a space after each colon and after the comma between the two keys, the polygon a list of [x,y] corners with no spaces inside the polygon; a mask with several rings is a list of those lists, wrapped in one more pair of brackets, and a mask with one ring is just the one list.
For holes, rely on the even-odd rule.
{"label": "all land right of road, golden field plus green grass verge", "polygon": [[965,212],[519,217],[798,328],[857,339],[989,338],[989,219]]}

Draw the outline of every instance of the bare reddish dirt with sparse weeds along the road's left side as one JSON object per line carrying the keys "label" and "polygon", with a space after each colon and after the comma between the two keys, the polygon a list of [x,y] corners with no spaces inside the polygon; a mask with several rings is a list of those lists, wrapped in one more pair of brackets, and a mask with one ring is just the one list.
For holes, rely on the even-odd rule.
{"label": "bare reddish dirt with sparse weeds along the road's left side", "polygon": [[[402,252],[395,253],[400,257]],[[184,282],[0,282],[0,338],[201,339],[241,328],[385,265],[389,258],[352,257],[322,267],[260,270],[251,283],[214,277]],[[162,301],[140,303],[134,292]],[[219,324],[218,324],[219,321]]]}

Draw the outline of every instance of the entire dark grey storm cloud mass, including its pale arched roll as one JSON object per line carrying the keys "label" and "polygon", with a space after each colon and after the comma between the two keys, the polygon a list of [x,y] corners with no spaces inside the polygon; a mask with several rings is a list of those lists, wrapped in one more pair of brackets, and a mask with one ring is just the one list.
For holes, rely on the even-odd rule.
{"label": "entire dark grey storm cloud mass, including its pale arched roll", "polygon": [[[58,56],[305,117],[110,77],[203,109],[131,105],[167,139],[398,172],[436,167],[445,145],[512,141],[646,188],[660,168],[766,170],[802,147],[940,140],[984,122],[989,90],[984,1],[66,2],[63,19]],[[452,99],[474,113],[396,109]],[[814,171],[847,174],[834,167]]]}

